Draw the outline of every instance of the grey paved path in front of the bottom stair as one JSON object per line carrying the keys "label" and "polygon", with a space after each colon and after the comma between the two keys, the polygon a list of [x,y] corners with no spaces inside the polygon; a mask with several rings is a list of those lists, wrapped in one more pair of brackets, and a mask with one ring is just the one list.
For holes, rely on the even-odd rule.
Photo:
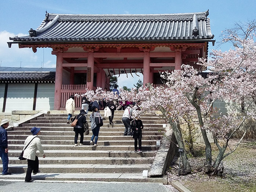
{"label": "grey paved path in front of the bottom stair", "polygon": [[25,183],[15,180],[0,180],[0,191],[18,191],[18,192],[176,192],[172,186],[166,187],[162,183],[148,182],[49,182],[49,181],[34,181]]}

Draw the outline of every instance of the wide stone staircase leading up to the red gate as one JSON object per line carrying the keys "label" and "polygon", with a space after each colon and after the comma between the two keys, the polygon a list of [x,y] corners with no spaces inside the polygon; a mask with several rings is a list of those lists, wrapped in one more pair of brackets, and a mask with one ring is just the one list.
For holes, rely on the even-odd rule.
{"label": "wide stone staircase leading up to the red gate", "polygon": [[[74,146],[75,133],[70,124],[66,124],[67,115],[57,112],[43,114],[29,123],[23,123],[22,127],[8,131],[9,172],[13,174],[3,175],[2,178],[25,179],[27,161],[20,161],[18,156],[26,137],[31,135],[30,129],[36,126],[41,128],[39,138],[46,158],[39,155],[41,173],[32,175],[35,180],[166,182],[164,178],[143,178],[142,174],[143,170],[150,170],[158,150],[156,141],[162,139],[165,131],[162,126],[164,121],[158,117],[141,117],[144,124],[143,152],[134,153],[133,138],[123,136],[123,111],[115,111],[115,124],[109,125],[108,118],[104,118],[97,147],[89,145],[91,130],[89,135],[84,135],[83,146]],[[87,117],[90,126],[89,115],[90,112]]]}

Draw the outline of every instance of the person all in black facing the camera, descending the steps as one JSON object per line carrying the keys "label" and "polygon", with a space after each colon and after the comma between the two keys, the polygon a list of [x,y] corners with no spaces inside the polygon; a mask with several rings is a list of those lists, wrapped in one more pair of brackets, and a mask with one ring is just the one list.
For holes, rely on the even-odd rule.
{"label": "person all in black facing the camera, descending the steps", "polygon": [[137,152],[137,145],[139,143],[139,149],[138,152],[141,151],[141,138],[142,138],[142,129],[143,129],[142,121],[135,117],[134,120],[131,121],[131,130],[133,130],[133,138],[134,138],[134,152]]}

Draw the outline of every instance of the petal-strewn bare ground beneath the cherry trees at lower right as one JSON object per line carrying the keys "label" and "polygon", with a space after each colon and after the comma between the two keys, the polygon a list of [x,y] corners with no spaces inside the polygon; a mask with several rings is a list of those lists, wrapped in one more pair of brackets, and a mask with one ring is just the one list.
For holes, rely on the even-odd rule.
{"label": "petal-strewn bare ground beneath the cherry trees at lower right", "polygon": [[[238,140],[230,141],[234,148]],[[213,144],[213,160],[217,156],[216,146]],[[224,172],[222,177],[213,177],[197,171],[205,162],[205,154],[189,158],[192,174],[181,175],[168,173],[168,181],[180,181],[191,191],[256,191],[256,142],[243,140],[234,153],[223,160]],[[179,169],[179,158],[175,157],[172,170]],[[220,185],[221,184],[221,185]]]}

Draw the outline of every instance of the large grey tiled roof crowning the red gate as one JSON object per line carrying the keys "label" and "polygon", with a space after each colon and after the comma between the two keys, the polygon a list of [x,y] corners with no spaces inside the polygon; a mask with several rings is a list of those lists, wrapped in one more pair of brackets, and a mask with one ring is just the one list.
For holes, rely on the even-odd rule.
{"label": "large grey tiled roof crowning the red gate", "polygon": [[[209,41],[208,11],[183,14],[85,15],[46,14],[39,28],[30,36],[10,37],[15,41],[52,42],[136,42],[181,41],[200,39]],[[198,34],[193,35],[193,30]],[[35,33],[36,32],[36,33]]]}

